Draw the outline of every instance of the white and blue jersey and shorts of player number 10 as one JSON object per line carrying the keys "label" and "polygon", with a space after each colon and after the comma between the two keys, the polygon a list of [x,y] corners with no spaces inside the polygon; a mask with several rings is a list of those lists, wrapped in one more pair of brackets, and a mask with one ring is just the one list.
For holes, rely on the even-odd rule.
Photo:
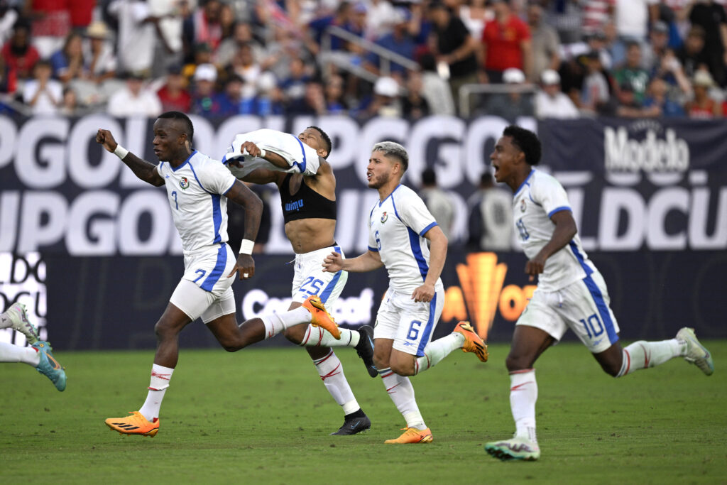
{"label": "white and blue jersey and shorts of player number 10", "polygon": [[[533,169],[513,197],[513,218],[526,256],[531,259],[553,237],[556,212],[571,211],[563,186],[554,177]],[[619,326],[610,308],[603,276],[581,246],[576,234],[545,261],[538,286],[518,325],[535,326],[561,340],[572,329],[593,353],[619,340]]]}

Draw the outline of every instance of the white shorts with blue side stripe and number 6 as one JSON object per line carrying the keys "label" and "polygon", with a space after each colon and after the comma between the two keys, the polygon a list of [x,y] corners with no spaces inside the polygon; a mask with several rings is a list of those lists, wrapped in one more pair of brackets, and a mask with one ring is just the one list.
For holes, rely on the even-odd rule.
{"label": "white shorts with blue side stripe and number 6", "polygon": [[387,289],[374,324],[374,339],[393,340],[393,348],[412,356],[424,355],[424,348],[442,315],[444,286],[438,283],[430,302],[414,302],[411,292]]}

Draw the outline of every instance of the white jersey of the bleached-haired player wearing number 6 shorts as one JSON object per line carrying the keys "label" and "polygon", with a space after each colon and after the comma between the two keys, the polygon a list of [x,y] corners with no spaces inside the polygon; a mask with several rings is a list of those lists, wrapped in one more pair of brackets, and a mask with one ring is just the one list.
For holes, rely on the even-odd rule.
{"label": "white jersey of the bleached-haired player wearing number 6 shorts", "polygon": [[369,217],[369,250],[379,253],[391,288],[409,292],[422,286],[429,271],[424,234],[435,225],[424,201],[404,185],[374,204]]}

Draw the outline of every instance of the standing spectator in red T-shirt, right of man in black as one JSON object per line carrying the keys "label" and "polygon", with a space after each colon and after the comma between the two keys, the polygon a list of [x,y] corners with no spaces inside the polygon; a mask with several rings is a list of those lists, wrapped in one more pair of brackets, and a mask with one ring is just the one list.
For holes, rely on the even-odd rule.
{"label": "standing spectator in red T-shirt, right of man in black", "polygon": [[530,28],[518,18],[504,0],[492,2],[495,17],[482,33],[482,60],[489,82],[502,82],[505,69],[531,73],[532,44]]}

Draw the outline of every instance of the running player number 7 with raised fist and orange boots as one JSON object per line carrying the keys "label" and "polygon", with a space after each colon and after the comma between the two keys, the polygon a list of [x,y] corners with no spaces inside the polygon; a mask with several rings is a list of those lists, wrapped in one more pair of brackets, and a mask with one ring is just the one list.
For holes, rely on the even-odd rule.
{"label": "running player number 7 with raised fist and orange boots", "polygon": [[[174,289],[169,305],[154,326],[156,355],[149,392],[139,411],[129,417],[109,418],[106,425],[122,434],[155,436],[159,409],[179,356],[178,335],[197,318],[206,324],[225,350],[234,352],[283,332],[287,326],[310,322],[326,326],[337,335],[337,327],[323,305],[307,300],[297,313],[276,318],[252,318],[237,324],[233,276],[241,280],[254,275],[252,247],[260,225],[262,201],[239,182],[220,161],[191,148],[192,122],[184,113],[162,113],[154,122],[154,153],[158,165],[142,160],[116,143],[111,132],[99,129],[97,143],[116,154],[132,171],[151,185],[166,185],[174,225],[182,239],[185,273]],[[245,209],[245,234],[236,260],[226,244],[227,200]]]}

